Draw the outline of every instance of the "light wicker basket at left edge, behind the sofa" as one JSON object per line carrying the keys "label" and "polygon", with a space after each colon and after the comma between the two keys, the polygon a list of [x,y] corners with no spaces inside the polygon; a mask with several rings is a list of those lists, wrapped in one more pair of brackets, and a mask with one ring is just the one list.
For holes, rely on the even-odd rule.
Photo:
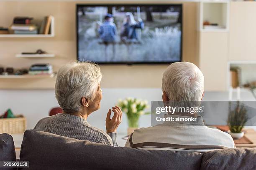
{"label": "light wicker basket at left edge, behind the sofa", "polygon": [[0,119],[0,133],[24,133],[26,130],[26,118],[3,118]]}

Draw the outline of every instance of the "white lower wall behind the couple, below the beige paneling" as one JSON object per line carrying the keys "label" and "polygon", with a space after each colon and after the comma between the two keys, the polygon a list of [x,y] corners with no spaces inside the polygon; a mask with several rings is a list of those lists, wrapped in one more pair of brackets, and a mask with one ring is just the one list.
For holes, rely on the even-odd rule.
{"label": "white lower wall behind the couple, below the beige paneling", "polygon": [[[109,108],[114,106],[118,99],[125,97],[137,97],[143,100],[161,100],[160,88],[102,88],[103,98],[100,110],[88,117],[91,125],[105,130],[105,116]],[[236,100],[236,94],[233,94]],[[255,100],[251,92],[242,91],[242,100]],[[205,92],[204,100],[228,100],[228,92]],[[54,90],[0,90],[0,114],[8,108],[13,113],[22,114],[27,118],[27,128],[31,129],[42,117],[49,114],[52,107],[58,106],[54,96]],[[148,109],[150,110],[150,108]],[[140,121],[141,127],[151,125],[150,115],[144,115]],[[119,133],[126,133],[127,119],[124,114],[123,122],[118,128]]]}

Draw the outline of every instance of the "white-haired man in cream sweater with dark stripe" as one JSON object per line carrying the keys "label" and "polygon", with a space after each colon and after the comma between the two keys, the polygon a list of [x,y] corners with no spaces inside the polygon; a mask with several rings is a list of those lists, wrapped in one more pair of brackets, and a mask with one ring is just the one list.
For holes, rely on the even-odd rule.
{"label": "white-haired man in cream sweater with dark stripe", "polygon": [[[176,62],[166,69],[162,78],[163,102],[178,105],[201,101],[204,95],[204,76],[190,62]],[[183,113],[164,115],[174,118],[196,117],[197,121],[165,121],[163,124],[134,131],[125,146],[140,149],[209,151],[235,148],[228,133],[204,125],[201,116]]]}

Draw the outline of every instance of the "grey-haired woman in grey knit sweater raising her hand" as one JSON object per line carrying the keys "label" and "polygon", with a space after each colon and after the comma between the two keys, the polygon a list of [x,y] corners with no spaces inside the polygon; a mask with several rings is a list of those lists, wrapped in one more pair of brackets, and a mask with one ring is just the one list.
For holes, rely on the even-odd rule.
{"label": "grey-haired woman in grey knit sweater raising her hand", "polygon": [[112,107],[112,118],[111,109],[108,110],[107,133],[87,122],[87,117],[100,109],[101,78],[100,67],[90,62],[73,62],[61,67],[57,75],[55,95],[63,113],[41,119],[34,129],[117,146],[116,130],[122,120],[122,111],[118,106]]}

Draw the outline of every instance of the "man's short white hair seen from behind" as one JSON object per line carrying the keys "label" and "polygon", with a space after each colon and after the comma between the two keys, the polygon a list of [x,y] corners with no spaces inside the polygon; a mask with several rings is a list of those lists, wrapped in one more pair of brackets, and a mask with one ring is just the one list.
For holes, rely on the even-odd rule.
{"label": "man's short white hair seen from behind", "polygon": [[163,74],[162,90],[170,101],[180,105],[186,101],[200,101],[204,92],[204,76],[191,62],[175,62]]}

